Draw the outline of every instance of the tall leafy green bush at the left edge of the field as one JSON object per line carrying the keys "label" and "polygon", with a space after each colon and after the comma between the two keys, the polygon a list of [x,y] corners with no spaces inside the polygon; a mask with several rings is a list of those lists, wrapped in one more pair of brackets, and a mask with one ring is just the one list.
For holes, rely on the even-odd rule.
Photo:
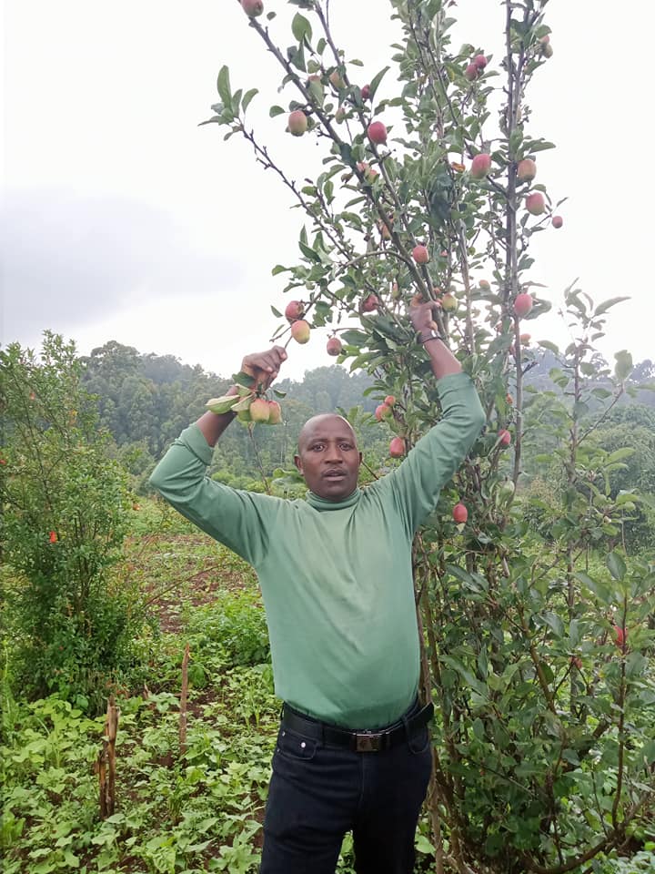
{"label": "tall leafy green bush at the left edge of the field", "polygon": [[130,664],[139,619],[112,578],[126,534],[125,474],[96,430],[75,345],[45,333],[40,356],[0,351],[5,422],[0,499],[15,681],[96,706]]}

